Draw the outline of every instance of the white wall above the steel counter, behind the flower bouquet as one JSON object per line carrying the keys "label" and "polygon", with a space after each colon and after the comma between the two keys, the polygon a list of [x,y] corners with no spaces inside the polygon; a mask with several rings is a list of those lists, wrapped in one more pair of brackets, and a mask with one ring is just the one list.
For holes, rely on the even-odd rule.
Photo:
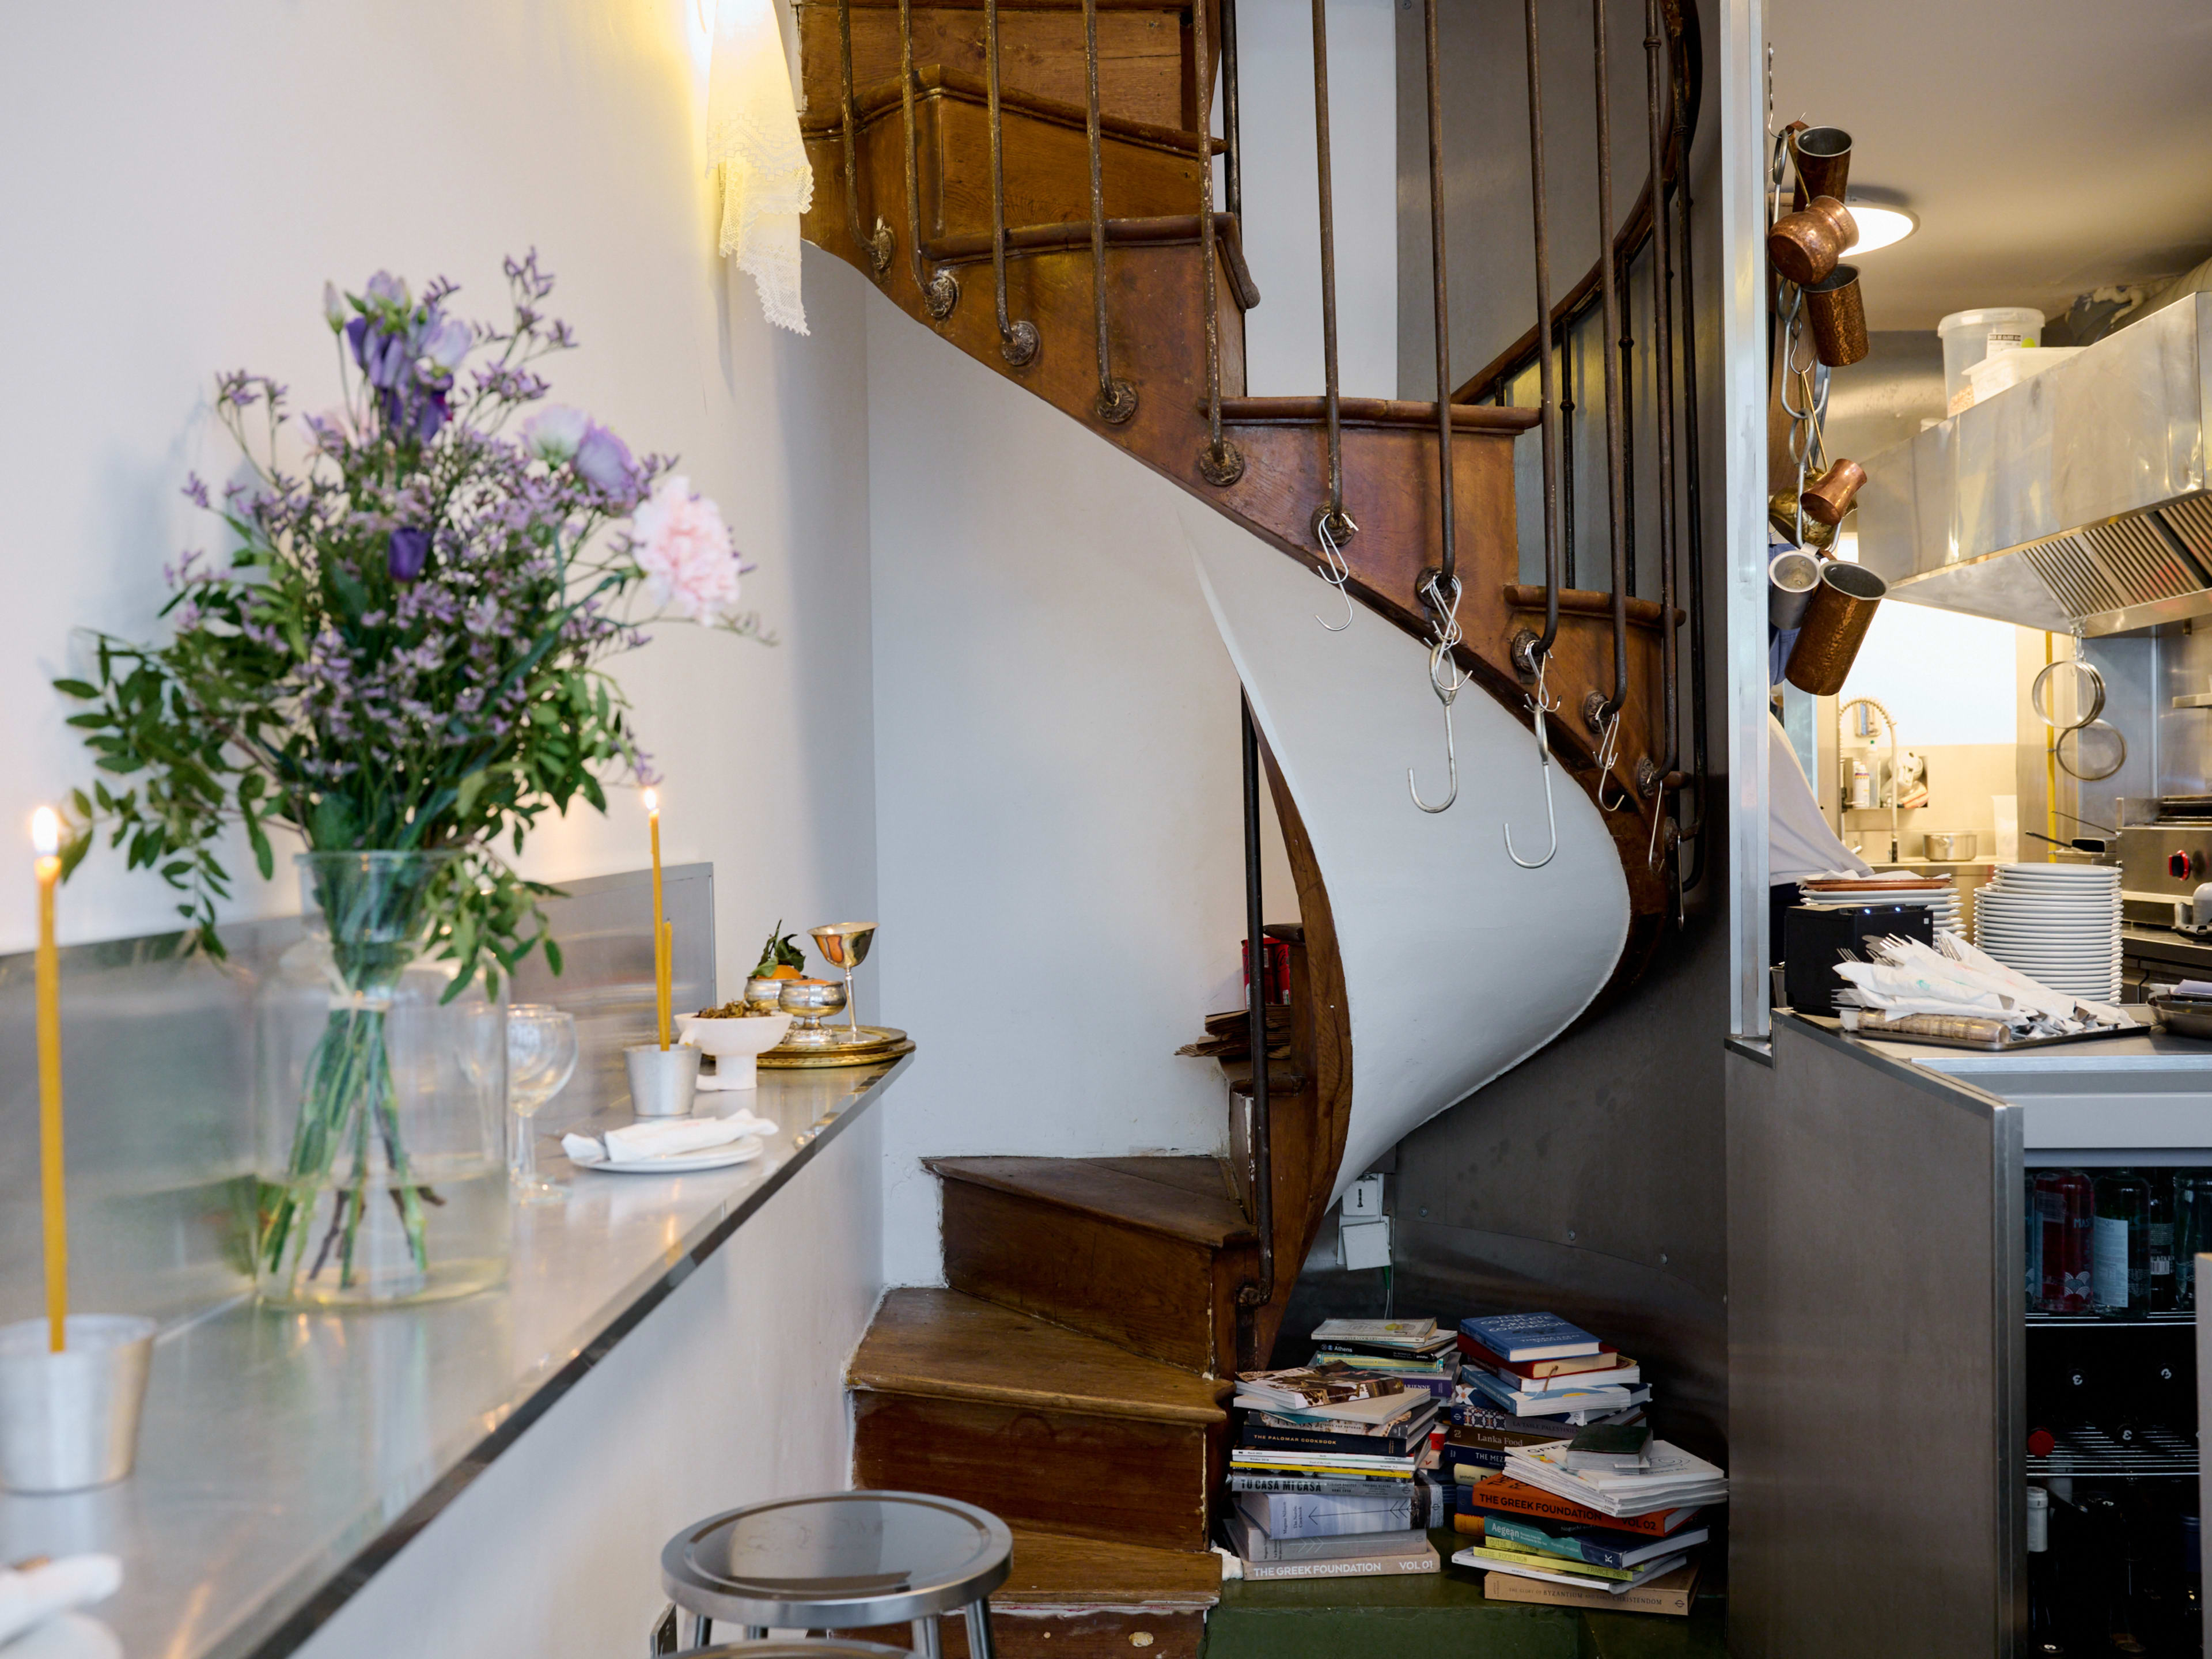
{"label": "white wall above the steel counter, behind the flower bouquet", "polygon": [[[712,858],[723,973],[776,916],[874,907],[865,283],[807,250],[814,336],[770,330],[712,252],[697,0],[15,7],[0,24],[0,847],[88,776],[46,681],[71,628],[148,635],[161,564],[221,546],[179,500],[230,471],[221,367],[336,400],[323,279],[389,265],[498,316],[500,257],[535,246],[584,349],[555,396],[675,451],[761,568],[774,650],[679,626],[619,672],[668,776],[672,860]],[[24,858],[29,854],[24,852]],[[617,796],[531,843],[544,878],[637,867]],[[239,858],[250,872],[250,860]],[[239,914],[296,909],[290,872]],[[170,925],[170,896],[95,854],[64,940]],[[0,883],[0,951],[31,938]]]}

